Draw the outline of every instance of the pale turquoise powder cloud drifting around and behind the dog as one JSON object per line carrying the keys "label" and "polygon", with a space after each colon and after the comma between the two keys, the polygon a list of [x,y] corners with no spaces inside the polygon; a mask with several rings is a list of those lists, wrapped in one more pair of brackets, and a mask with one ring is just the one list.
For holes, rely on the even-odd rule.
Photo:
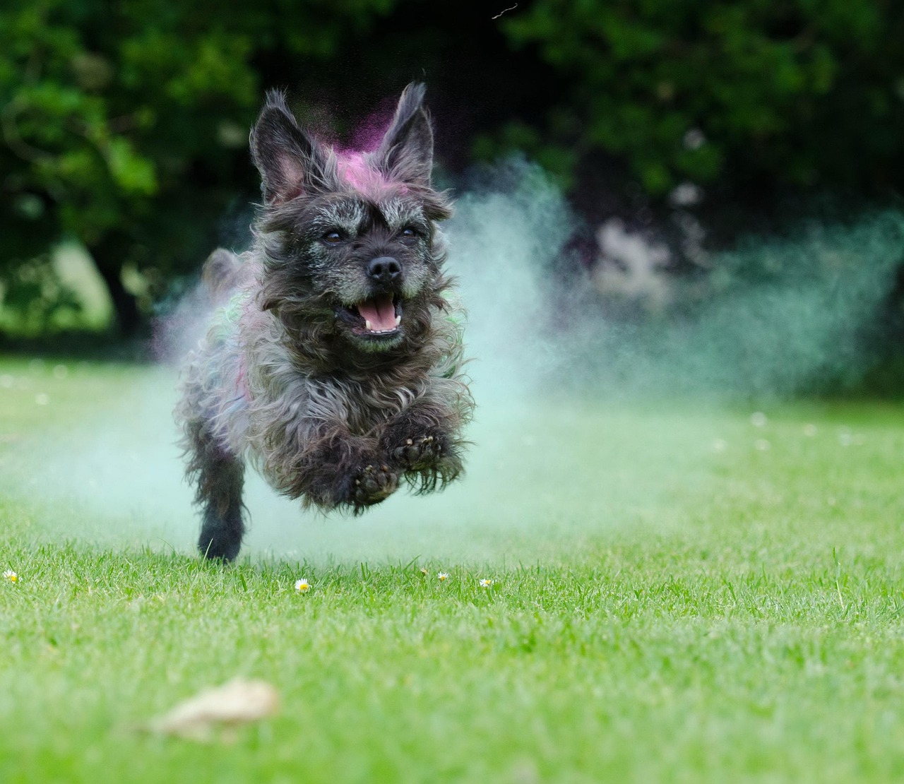
{"label": "pale turquoise powder cloud drifting around and behind the dog", "polygon": [[[705,286],[673,292],[693,302],[682,316],[615,319],[589,274],[556,277],[575,224],[538,170],[505,165],[481,183],[457,194],[447,225],[474,358],[466,477],[352,518],[302,513],[250,475],[243,555],[530,562],[607,532],[676,524],[670,494],[705,488],[720,453],[760,449],[756,422],[739,425],[749,412],[870,366],[869,329],[904,249],[899,217],[750,240],[708,261]],[[174,311],[177,333],[192,334],[184,319],[200,302]],[[40,386],[50,368],[35,373]],[[42,531],[193,552],[175,380],[166,365],[115,375],[114,403],[18,446],[5,484],[43,510]]]}

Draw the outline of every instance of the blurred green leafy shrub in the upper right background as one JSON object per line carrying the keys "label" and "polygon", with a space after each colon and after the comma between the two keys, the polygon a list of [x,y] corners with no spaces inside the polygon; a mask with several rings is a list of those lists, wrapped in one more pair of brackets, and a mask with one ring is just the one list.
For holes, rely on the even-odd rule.
{"label": "blurred green leafy shrub in the upper right background", "polygon": [[885,0],[541,0],[504,32],[560,78],[512,144],[568,180],[594,150],[649,194],[690,179],[742,190],[901,184],[904,5]]}

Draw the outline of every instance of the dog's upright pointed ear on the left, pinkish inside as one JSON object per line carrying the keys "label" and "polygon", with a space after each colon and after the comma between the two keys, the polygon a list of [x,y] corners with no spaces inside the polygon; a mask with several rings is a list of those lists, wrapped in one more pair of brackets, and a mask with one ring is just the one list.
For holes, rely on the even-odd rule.
{"label": "dog's upright pointed ear on the left, pinkish inside", "polygon": [[250,146],[268,205],[315,190],[325,180],[325,150],[298,126],[279,90],[268,90],[267,102],[251,128]]}

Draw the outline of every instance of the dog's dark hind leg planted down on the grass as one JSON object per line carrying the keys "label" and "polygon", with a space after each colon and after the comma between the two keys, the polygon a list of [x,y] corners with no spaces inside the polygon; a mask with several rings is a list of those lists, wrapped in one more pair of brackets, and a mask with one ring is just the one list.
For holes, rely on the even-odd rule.
{"label": "dog's dark hind leg planted down on the grass", "polygon": [[232,561],[245,533],[241,489],[245,466],[226,452],[207,432],[204,422],[190,422],[186,475],[197,484],[195,503],[201,506],[198,549],[205,558]]}

